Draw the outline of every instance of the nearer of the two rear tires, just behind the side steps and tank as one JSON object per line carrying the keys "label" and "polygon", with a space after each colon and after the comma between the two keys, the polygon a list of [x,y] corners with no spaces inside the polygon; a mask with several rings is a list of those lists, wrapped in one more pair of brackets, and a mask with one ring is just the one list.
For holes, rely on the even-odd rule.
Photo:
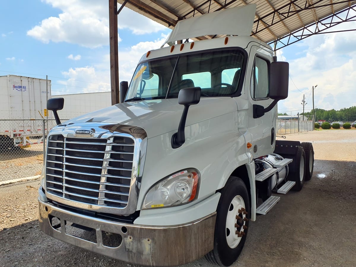
{"label": "nearer of the two rear tires, just behind the side steps and tank", "polygon": [[292,188],[295,191],[300,191],[303,188],[305,181],[305,152],[303,147],[298,146],[297,154],[294,161],[294,170],[289,173],[287,180],[294,181],[295,185]]}

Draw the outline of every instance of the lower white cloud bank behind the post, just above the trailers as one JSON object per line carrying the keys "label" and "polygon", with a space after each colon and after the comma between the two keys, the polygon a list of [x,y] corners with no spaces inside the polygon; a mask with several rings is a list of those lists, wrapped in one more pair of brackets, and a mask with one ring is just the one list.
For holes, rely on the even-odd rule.
{"label": "lower white cloud bank behind the post, just above the trailers", "polygon": [[[119,52],[119,79],[120,81],[130,82],[133,72],[142,55],[147,51],[159,48],[166,36],[152,42],[140,42],[132,46],[127,51]],[[119,49],[120,50],[120,49]],[[53,94],[67,93],[91,93],[98,91],[110,91],[110,56],[106,54],[100,57],[102,60],[92,66],[79,68],[70,68],[62,72],[65,81],[59,80],[56,83],[62,85],[59,88],[53,88]],[[58,89],[58,90],[57,90]],[[56,91],[57,90],[57,91]]]}

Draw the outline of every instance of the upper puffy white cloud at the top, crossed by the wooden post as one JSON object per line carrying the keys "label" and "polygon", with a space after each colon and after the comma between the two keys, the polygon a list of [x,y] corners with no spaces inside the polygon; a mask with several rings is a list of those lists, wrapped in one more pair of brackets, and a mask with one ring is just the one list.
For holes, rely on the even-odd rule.
{"label": "upper puffy white cloud at the top, crossed by the wooden post", "polygon": [[[58,17],[42,20],[40,25],[27,31],[27,35],[44,43],[68,42],[84,47],[109,44],[109,7],[105,0],[42,0],[62,10]],[[166,27],[124,8],[119,15],[118,27],[128,28],[135,34],[158,32]],[[121,41],[119,37],[119,42]]]}

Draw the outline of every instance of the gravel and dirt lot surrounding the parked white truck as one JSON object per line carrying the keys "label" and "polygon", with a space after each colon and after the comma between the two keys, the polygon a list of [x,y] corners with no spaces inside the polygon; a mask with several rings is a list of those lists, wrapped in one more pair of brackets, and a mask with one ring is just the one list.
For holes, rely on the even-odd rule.
{"label": "gravel and dirt lot surrounding the parked white truck", "polygon": [[[313,177],[251,222],[232,266],[356,266],[356,131],[296,133],[287,140],[313,143]],[[0,266],[135,266],[43,234],[38,187],[38,180],[0,187]],[[213,265],[201,258],[184,267],[196,266]]]}

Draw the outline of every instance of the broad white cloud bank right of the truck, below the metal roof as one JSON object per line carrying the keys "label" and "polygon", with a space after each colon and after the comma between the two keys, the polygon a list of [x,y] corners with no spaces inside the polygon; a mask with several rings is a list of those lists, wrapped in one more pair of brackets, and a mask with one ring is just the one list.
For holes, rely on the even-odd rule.
{"label": "broad white cloud bank right of the truck, below the metal roof", "polygon": [[[356,24],[345,26],[355,28]],[[337,26],[332,28],[337,30]],[[356,105],[356,35],[350,32],[328,33],[305,39],[307,50],[304,56],[289,61],[289,73],[295,85],[305,94],[305,111],[313,109],[312,86],[314,89],[314,107],[322,109],[349,108]],[[299,45],[300,46],[300,45]],[[305,47],[303,47],[304,49]],[[286,47],[284,49],[295,49]],[[287,58],[288,61],[288,58]],[[303,99],[289,79],[289,96],[278,103],[281,112],[288,110],[303,112],[300,104]]]}

